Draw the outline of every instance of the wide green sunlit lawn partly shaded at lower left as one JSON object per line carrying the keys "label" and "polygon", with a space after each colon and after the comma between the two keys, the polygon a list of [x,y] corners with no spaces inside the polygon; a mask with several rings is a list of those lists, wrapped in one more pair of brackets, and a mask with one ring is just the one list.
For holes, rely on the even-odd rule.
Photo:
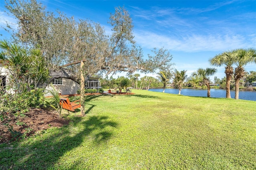
{"label": "wide green sunlit lawn partly shaded at lower left", "polygon": [[133,90],[0,145],[0,169],[256,169],[256,102]]}

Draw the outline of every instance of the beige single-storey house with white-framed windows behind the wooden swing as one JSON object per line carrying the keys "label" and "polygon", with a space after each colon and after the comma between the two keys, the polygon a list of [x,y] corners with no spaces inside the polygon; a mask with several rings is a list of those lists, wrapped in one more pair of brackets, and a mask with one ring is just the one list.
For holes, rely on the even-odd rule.
{"label": "beige single-storey house with white-framed windows behind the wooden swing", "polygon": [[[52,85],[61,95],[74,95],[80,90],[80,85],[71,79],[58,78],[52,81]],[[46,87],[46,92],[51,89],[50,85]],[[100,89],[100,81],[97,77],[91,77],[85,84],[86,89]],[[45,96],[50,96],[49,93],[46,93]]]}

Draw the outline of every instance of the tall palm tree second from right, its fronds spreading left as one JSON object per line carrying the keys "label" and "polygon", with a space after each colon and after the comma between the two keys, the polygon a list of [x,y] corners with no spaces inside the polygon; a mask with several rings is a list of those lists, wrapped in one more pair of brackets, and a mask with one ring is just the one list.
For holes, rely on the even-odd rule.
{"label": "tall palm tree second from right, its fronds spreading left", "polygon": [[233,76],[234,68],[232,65],[234,64],[235,57],[232,51],[224,51],[221,54],[215,55],[210,60],[211,65],[214,66],[222,66],[226,65],[225,67],[225,74],[226,74],[226,98],[231,98],[230,95],[230,82]]}

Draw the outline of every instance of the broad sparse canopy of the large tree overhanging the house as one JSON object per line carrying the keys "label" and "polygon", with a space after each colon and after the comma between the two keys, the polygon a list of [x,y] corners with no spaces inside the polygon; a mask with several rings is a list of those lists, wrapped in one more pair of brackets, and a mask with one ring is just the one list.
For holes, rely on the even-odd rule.
{"label": "broad sparse canopy of the large tree overhanging the house", "polygon": [[[144,57],[142,49],[134,41],[132,19],[124,7],[116,7],[115,13],[110,14],[112,34],[107,35],[98,23],[77,21],[59,11],[56,16],[53,12],[46,12],[36,0],[5,2],[10,14],[18,19],[18,32],[13,37],[31,47],[39,46],[51,72],[54,69],[56,72],[61,65],[77,61],[84,62],[85,77],[120,71],[148,73],[173,65],[170,62],[172,55],[164,48],[154,48],[154,55]],[[79,67],[74,64],[67,68]],[[73,72],[80,73],[77,70]]]}

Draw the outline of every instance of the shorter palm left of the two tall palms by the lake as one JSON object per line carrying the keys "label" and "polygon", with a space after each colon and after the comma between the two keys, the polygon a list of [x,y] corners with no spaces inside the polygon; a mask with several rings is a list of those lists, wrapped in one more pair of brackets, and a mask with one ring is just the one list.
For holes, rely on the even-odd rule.
{"label": "shorter palm left of the two tall palms by the lake", "polygon": [[215,68],[199,68],[196,72],[192,73],[192,76],[202,77],[203,83],[207,86],[207,97],[210,97],[210,77],[216,73],[217,69]]}

